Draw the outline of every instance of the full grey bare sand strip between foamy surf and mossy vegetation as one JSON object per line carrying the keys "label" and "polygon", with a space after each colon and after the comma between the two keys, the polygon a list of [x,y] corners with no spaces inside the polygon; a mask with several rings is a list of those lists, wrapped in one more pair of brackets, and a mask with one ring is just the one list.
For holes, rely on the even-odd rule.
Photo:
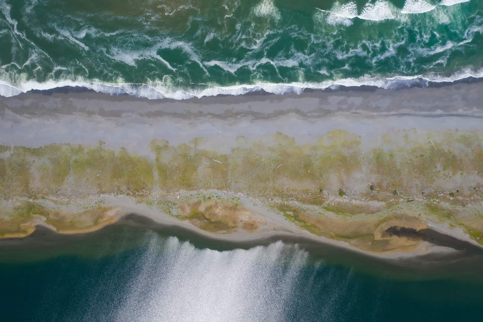
{"label": "full grey bare sand strip between foamy surf and mossy vegetation", "polygon": [[[236,138],[276,132],[311,143],[343,130],[377,144],[390,130],[482,130],[482,83],[443,88],[315,91],[300,95],[243,95],[147,100],[101,93],[25,93],[0,97],[0,145],[52,143],[125,147],[149,155],[153,139],[171,145],[196,137],[226,152]],[[368,146],[369,147],[369,146]]]}

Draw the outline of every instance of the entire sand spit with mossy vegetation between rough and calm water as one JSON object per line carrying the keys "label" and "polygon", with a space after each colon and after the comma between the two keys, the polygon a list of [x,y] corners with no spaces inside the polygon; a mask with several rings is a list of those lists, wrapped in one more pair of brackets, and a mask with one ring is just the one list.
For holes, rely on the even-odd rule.
{"label": "entire sand spit with mossy vegetation between rough and calm water", "polygon": [[304,236],[385,257],[480,247],[479,86],[1,98],[0,237],[134,213],[220,240]]}

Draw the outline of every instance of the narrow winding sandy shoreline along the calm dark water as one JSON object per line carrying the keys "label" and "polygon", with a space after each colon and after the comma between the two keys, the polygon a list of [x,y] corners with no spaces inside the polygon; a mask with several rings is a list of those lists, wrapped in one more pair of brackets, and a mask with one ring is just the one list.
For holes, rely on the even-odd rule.
{"label": "narrow winding sandy shoreline along the calm dark water", "polygon": [[[437,224],[430,224],[425,231],[425,234],[430,235],[431,243],[425,242],[420,245],[417,250],[410,252],[371,252],[368,250],[357,249],[351,247],[347,242],[333,240],[324,236],[317,236],[310,234],[308,231],[298,229],[297,226],[289,226],[283,222],[283,218],[279,221],[271,221],[272,225],[277,225],[276,230],[261,229],[256,232],[235,232],[235,233],[212,233],[199,229],[192,225],[188,221],[177,220],[166,214],[151,212],[147,210],[147,207],[142,210],[135,210],[131,206],[118,207],[115,214],[105,221],[99,224],[87,228],[78,230],[57,230],[55,227],[46,224],[45,222],[37,220],[35,226],[27,234],[11,234],[5,235],[0,238],[0,249],[9,247],[12,245],[28,245],[30,242],[41,243],[43,240],[43,234],[36,236],[36,233],[41,230],[48,230],[51,234],[62,236],[77,236],[88,237],[90,234],[99,234],[104,229],[114,227],[116,225],[129,225],[135,226],[147,230],[158,230],[166,232],[173,236],[179,235],[192,235],[197,236],[200,239],[208,240],[211,242],[224,243],[229,249],[240,247],[256,247],[265,246],[270,243],[282,240],[284,242],[291,242],[302,244],[305,247],[309,247],[313,250],[317,250],[317,247],[322,249],[333,249],[334,251],[344,251],[346,253],[352,253],[355,255],[361,255],[366,258],[372,258],[377,260],[383,260],[391,263],[412,263],[414,265],[421,265],[424,263],[447,263],[448,259],[454,261],[455,259],[472,258],[473,256],[483,255],[483,246],[476,243],[472,239],[465,238],[461,234],[455,234],[451,229],[444,229]],[[122,209],[122,210],[121,210]],[[144,210],[144,211],[143,211]],[[274,218],[271,218],[274,219]],[[435,237],[438,236],[438,237]],[[34,240],[31,238],[33,237]],[[434,240],[439,238],[439,240]]]}

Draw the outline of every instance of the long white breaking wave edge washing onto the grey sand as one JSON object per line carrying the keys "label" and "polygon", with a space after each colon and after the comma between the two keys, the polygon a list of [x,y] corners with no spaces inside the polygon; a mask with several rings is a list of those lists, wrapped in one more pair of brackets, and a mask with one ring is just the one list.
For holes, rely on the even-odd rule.
{"label": "long white breaking wave edge washing onto the grey sand", "polygon": [[[174,99],[189,100],[203,97],[216,96],[240,96],[240,95],[286,95],[290,93],[301,94],[304,91],[325,91],[325,90],[374,90],[374,89],[404,89],[404,88],[440,88],[448,85],[471,84],[482,81],[482,70],[469,71],[462,70],[454,73],[450,77],[440,76],[439,74],[429,74],[426,76],[393,76],[370,78],[363,76],[360,78],[339,79],[336,81],[325,81],[321,83],[257,83],[229,86],[215,86],[204,89],[176,89],[175,91],[167,88],[159,88],[156,84],[110,84],[110,83],[82,83],[75,81],[58,81],[37,83],[29,81],[29,88],[18,88],[7,81],[0,81],[0,95],[12,97],[22,93],[54,93],[71,91],[94,91],[98,93],[108,93],[114,96],[129,95],[136,98],[147,98],[150,100]],[[21,84],[23,85],[23,84]]]}

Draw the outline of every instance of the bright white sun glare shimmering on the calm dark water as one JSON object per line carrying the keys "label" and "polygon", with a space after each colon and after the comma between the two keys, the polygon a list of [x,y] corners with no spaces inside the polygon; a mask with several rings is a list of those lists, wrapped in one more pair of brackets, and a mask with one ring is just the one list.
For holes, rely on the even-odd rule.
{"label": "bright white sun glare shimmering on the calm dark water", "polygon": [[282,242],[220,252],[153,235],[115,320],[285,321],[307,257]]}

